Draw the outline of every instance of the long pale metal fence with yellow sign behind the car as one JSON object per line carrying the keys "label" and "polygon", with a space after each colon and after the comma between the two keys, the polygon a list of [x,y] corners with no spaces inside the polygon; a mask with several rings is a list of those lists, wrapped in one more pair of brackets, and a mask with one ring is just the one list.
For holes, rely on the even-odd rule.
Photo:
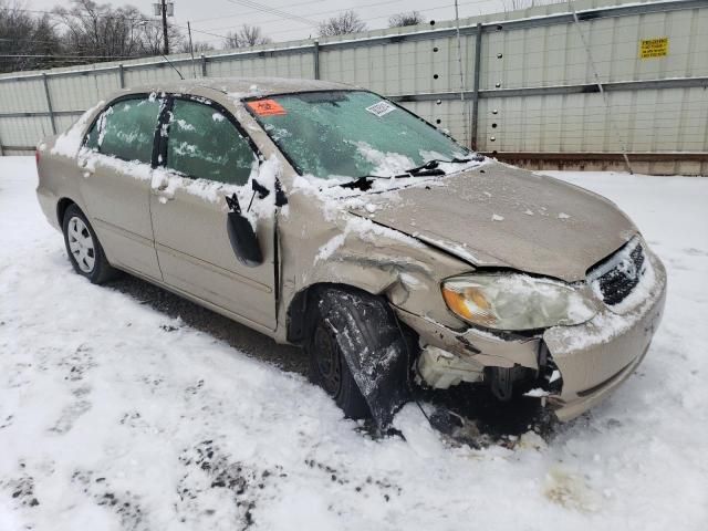
{"label": "long pale metal fence with yellow sign behind the car", "polygon": [[[170,61],[186,77],[364,86],[527,165],[607,167],[626,152],[638,171],[708,174],[708,0],[604,3],[465,19],[459,38],[446,22]],[[175,79],[155,58],[0,75],[0,154],[32,152],[119,87]]]}

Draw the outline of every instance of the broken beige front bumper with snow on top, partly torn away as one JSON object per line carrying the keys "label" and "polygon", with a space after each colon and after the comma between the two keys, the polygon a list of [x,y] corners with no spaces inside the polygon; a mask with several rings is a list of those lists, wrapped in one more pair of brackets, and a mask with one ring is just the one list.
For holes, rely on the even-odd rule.
{"label": "broken beige front bumper with snow on top, partly torn away", "polygon": [[[425,371],[436,375],[433,382],[428,382],[434,387],[444,388],[445,385],[436,385],[439,382],[482,382],[490,374],[486,371],[489,367],[527,367],[535,371],[541,379],[542,373],[549,368],[543,364],[550,360],[560,373],[561,385],[556,383],[549,389],[546,403],[556,417],[565,421],[615,391],[646,354],[666,299],[664,266],[652,252],[647,252],[647,257],[654,271],[654,282],[647,289],[647,296],[634,308],[624,313],[605,308],[586,323],[553,326],[532,337],[501,337],[477,329],[455,331],[400,308],[394,306],[394,310],[418,333],[426,354],[420,361],[428,364]],[[459,377],[460,364],[449,356],[438,355],[437,358],[444,363],[430,366],[430,347],[435,353],[441,350],[461,361],[465,371],[470,372],[469,376]],[[446,366],[454,366],[455,375],[450,373],[450,377],[444,377]]]}

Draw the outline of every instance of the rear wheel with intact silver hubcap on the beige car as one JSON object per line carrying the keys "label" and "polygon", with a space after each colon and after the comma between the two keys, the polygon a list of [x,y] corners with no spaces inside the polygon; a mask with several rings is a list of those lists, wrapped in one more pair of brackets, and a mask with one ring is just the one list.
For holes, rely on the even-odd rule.
{"label": "rear wheel with intact silver hubcap on the beige car", "polygon": [[76,205],[66,208],[62,232],[74,271],[94,284],[102,284],[116,275],[117,271],[106,260],[93,227]]}

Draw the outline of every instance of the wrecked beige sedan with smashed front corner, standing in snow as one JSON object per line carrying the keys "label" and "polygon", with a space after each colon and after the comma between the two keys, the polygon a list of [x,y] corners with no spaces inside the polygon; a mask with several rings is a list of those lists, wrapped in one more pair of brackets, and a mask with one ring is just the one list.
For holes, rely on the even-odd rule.
{"label": "wrecked beige sedan with smashed front corner, standing in snow", "polygon": [[77,273],[126,271],[302,345],[345,414],[381,426],[462,382],[575,417],[633,373],[664,308],[664,267],[614,204],[347,85],[125,90],[37,156]]}

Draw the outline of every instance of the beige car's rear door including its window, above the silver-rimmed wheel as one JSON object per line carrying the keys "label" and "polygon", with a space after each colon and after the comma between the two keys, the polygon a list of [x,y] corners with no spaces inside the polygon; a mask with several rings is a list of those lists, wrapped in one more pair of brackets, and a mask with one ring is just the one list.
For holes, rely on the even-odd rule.
{"label": "beige car's rear door including its window, above the silver-rimmed wheel", "polygon": [[160,280],[149,212],[152,164],[163,101],[131,95],[101,113],[79,155],[80,190],[112,264]]}

